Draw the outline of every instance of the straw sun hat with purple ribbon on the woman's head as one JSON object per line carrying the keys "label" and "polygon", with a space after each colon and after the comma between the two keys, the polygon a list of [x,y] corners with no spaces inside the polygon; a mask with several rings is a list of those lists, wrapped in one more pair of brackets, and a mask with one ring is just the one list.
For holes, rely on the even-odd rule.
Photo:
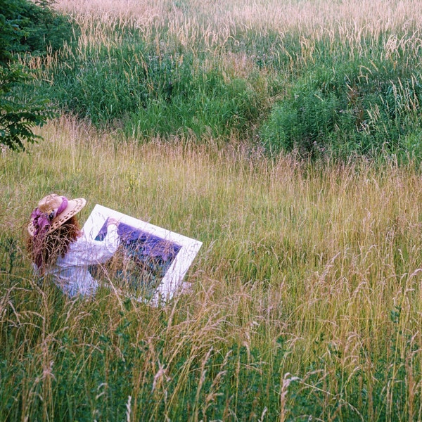
{"label": "straw sun hat with purple ribbon on the woman's head", "polygon": [[[68,199],[56,193],[42,198],[31,215],[31,222],[28,225],[30,235],[37,234],[41,224],[45,226],[45,234],[51,233],[82,210],[86,203],[84,198]],[[42,223],[39,221],[40,218],[43,220]]]}

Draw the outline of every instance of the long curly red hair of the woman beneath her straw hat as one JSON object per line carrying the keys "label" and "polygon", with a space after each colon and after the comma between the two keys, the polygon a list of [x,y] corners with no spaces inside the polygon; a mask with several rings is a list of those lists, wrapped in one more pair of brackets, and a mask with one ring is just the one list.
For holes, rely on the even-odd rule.
{"label": "long curly red hair of the woman beneath her straw hat", "polygon": [[82,231],[77,217],[70,217],[67,222],[41,240],[36,236],[30,236],[27,240],[27,249],[30,252],[31,260],[37,265],[41,276],[47,268],[56,264],[58,257],[64,257],[69,250],[70,243],[81,236]]}

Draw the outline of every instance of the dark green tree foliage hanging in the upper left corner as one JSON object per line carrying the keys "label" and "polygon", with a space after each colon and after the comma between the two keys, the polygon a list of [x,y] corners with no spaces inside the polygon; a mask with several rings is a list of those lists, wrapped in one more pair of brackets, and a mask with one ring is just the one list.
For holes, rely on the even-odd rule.
{"label": "dark green tree foliage hanging in the upper left corner", "polygon": [[28,70],[18,63],[18,54],[43,54],[60,48],[70,39],[67,18],[55,13],[48,3],[27,0],[0,0],[0,144],[15,151],[40,137],[32,128],[53,116],[44,98],[25,99],[16,89],[30,81]]}

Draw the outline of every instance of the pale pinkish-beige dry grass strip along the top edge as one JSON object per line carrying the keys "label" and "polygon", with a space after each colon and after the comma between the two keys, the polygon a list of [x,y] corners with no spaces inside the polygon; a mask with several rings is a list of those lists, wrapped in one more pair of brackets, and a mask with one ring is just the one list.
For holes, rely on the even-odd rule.
{"label": "pale pinkish-beige dry grass strip along the top edge", "polygon": [[[236,27],[266,34],[299,32],[305,37],[323,34],[344,40],[376,37],[381,32],[407,30],[417,32],[422,24],[421,1],[68,1],[56,7],[74,13],[77,19],[100,18],[103,23],[116,17],[136,22],[141,30],[165,24],[179,40],[209,39],[210,47],[224,43]],[[192,37],[193,39],[191,39]]]}

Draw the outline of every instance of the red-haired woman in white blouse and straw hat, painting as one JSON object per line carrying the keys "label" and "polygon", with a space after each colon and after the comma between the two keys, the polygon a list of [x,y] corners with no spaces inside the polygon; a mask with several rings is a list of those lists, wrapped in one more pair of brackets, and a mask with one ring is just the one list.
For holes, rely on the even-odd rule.
{"label": "red-haired woman in white blouse and straw hat, painting", "polygon": [[85,204],[84,198],[68,200],[53,193],[39,201],[28,226],[28,247],[35,270],[40,276],[51,276],[71,297],[94,295],[98,281],[88,267],[109,260],[120,243],[115,219],[108,219],[103,241],[88,238],[81,231],[76,215]]}

